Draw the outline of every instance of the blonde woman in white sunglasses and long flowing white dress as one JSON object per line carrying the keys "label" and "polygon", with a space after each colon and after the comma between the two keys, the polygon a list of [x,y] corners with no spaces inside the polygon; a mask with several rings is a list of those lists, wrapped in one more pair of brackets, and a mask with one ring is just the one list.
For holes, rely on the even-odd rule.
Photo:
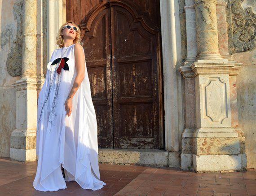
{"label": "blonde woman in white sunglasses and long flowing white dress", "polygon": [[80,30],[74,22],[61,26],[38,98],[33,186],[39,191],[65,189],[76,181],[98,190],[100,180],[97,120],[91,97]]}

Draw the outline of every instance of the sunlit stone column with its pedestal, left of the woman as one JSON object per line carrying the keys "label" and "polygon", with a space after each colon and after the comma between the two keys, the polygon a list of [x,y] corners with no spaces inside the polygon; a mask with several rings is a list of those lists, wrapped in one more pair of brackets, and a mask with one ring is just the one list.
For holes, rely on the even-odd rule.
{"label": "sunlit stone column with its pedestal, left of the woman", "polygon": [[36,141],[36,1],[23,1],[22,77],[16,89],[16,129],[11,134],[10,158],[35,161]]}

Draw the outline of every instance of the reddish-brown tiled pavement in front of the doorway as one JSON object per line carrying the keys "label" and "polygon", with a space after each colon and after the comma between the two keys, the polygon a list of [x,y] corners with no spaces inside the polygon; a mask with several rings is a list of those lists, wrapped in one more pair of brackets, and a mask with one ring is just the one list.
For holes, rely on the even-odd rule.
{"label": "reddish-brown tiled pavement in front of the doorway", "polygon": [[36,191],[32,185],[37,161],[0,158],[0,196],[246,196],[256,195],[256,170],[198,174],[172,168],[100,164],[100,190],[84,190],[76,182],[57,192]]}

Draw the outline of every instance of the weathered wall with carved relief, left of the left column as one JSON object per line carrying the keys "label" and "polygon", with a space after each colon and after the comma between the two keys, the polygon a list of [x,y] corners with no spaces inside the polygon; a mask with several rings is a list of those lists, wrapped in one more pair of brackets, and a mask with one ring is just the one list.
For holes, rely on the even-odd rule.
{"label": "weathered wall with carved relief, left of the left column", "polygon": [[16,91],[22,71],[22,2],[0,0],[0,157],[10,156],[10,135],[16,128]]}

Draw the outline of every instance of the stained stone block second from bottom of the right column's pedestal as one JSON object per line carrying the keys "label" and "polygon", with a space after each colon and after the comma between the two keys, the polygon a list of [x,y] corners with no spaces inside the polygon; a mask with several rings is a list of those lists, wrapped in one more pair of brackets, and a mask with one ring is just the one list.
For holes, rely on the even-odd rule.
{"label": "stained stone block second from bottom of the right column's pedestal", "polygon": [[231,155],[239,153],[239,138],[194,138],[194,154],[196,155]]}

